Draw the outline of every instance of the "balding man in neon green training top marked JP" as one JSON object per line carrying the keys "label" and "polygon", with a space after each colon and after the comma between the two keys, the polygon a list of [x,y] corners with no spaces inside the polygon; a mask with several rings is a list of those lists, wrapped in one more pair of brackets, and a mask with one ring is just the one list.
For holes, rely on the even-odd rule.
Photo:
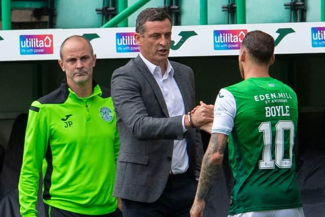
{"label": "balding man in neon green training top marked JP", "polygon": [[110,90],[92,80],[96,55],[81,36],[61,45],[61,86],[29,109],[20,212],[36,216],[43,172],[46,216],[119,216],[112,196],[119,138]]}

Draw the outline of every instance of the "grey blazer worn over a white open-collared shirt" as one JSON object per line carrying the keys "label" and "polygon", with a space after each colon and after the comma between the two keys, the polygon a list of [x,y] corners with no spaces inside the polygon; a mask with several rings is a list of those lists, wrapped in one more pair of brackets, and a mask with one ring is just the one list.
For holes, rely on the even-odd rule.
{"label": "grey blazer worn over a white open-collared shirt", "polygon": [[[185,110],[195,106],[193,71],[171,61]],[[111,92],[117,117],[120,151],[114,196],[154,202],[163,193],[171,170],[175,139],[186,138],[189,173],[199,177],[203,145],[198,129],[182,131],[182,115],[169,117],[163,94],[138,55],[115,70]]]}

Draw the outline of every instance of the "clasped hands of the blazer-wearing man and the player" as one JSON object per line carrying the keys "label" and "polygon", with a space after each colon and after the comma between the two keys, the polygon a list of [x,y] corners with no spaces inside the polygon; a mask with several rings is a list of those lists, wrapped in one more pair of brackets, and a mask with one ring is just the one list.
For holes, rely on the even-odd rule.
{"label": "clasped hands of the blazer-wearing man and the player", "polygon": [[[207,105],[204,102],[200,101],[200,106],[197,106],[191,112],[191,122],[193,125],[196,127],[201,127],[208,122],[212,122],[213,109],[214,105]],[[211,131],[209,133],[211,133]]]}

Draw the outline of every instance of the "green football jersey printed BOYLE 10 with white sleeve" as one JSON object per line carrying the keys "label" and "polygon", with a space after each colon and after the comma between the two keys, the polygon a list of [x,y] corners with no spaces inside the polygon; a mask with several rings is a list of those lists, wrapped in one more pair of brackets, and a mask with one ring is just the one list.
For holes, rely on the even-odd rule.
{"label": "green football jersey printed BOYLE 10 with white sleeve", "polygon": [[229,214],[302,207],[293,151],[298,101],[271,77],[220,90],[212,133],[229,137],[234,187]]}

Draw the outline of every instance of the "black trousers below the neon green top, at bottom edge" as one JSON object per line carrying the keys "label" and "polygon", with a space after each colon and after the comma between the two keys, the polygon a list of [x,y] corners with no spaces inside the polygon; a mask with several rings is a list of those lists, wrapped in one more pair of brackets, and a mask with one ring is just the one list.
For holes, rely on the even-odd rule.
{"label": "black trousers below the neon green top, at bottom edge", "polygon": [[122,212],[116,208],[114,212],[103,214],[103,215],[85,215],[79,214],[75,212],[70,212],[67,210],[55,208],[53,206],[49,206],[44,204],[45,206],[45,217],[122,217]]}

